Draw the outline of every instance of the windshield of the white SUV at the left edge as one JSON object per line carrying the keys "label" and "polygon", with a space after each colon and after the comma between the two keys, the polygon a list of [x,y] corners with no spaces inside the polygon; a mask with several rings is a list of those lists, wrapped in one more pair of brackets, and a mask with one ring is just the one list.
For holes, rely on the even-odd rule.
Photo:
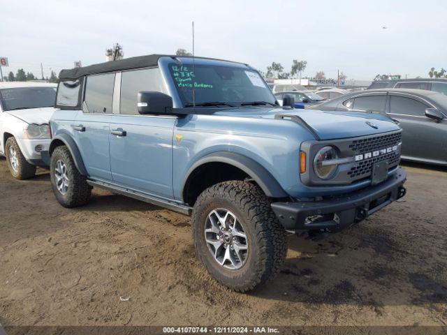
{"label": "windshield of the white SUV at the left edge", "polygon": [[56,87],[15,87],[0,89],[3,110],[52,107],[56,98]]}

